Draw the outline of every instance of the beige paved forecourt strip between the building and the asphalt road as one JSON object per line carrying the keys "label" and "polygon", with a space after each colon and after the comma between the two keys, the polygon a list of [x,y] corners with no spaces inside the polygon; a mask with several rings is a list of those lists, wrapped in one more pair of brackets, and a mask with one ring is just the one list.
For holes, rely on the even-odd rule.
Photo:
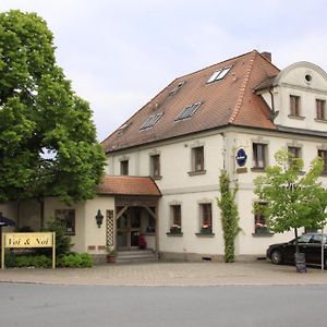
{"label": "beige paved forecourt strip between the building and the asphalt road", "polygon": [[108,264],[84,269],[9,268],[0,282],[106,286],[327,284],[327,270],[275,266],[266,261],[246,263]]}

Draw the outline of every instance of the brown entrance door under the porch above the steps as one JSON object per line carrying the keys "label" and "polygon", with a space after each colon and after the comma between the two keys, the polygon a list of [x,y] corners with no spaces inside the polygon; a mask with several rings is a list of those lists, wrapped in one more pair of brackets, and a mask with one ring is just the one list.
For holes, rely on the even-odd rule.
{"label": "brown entrance door under the porch above the steps", "polygon": [[129,208],[117,220],[117,247],[118,251],[138,249],[141,233],[141,214],[138,208]]}

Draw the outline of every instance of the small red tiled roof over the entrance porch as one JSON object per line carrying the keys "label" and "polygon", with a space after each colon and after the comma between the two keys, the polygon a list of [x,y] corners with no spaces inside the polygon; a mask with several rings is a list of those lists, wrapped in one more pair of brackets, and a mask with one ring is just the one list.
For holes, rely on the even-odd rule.
{"label": "small red tiled roof over the entrance porch", "polygon": [[97,194],[161,196],[149,177],[106,175],[96,189]]}

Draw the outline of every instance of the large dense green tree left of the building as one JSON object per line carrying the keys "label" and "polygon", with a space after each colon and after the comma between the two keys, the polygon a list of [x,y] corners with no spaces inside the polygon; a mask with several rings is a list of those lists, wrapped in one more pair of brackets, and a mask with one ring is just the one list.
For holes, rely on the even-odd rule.
{"label": "large dense green tree left of the building", "polygon": [[0,201],[94,196],[105,155],[88,104],[56,63],[34,13],[0,13]]}

